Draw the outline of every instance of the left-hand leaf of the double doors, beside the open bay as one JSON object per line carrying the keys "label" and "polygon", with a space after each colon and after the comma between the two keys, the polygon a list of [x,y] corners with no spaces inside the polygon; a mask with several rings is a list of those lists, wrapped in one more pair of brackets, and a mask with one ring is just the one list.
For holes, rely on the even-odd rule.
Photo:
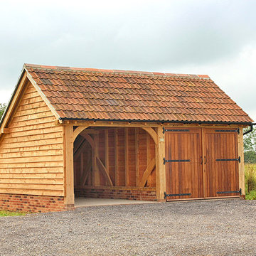
{"label": "left-hand leaf of the double doors, beside the open bay", "polygon": [[202,198],[201,129],[165,129],[168,199]]}

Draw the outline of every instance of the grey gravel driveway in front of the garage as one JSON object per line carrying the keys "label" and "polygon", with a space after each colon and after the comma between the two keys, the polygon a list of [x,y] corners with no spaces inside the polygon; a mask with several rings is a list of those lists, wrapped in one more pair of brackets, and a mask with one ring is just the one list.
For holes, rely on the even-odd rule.
{"label": "grey gravel driveway in front of the garage", "polygon": [[256,255],[256,201],[92,206],[0,218],[0,255]]}

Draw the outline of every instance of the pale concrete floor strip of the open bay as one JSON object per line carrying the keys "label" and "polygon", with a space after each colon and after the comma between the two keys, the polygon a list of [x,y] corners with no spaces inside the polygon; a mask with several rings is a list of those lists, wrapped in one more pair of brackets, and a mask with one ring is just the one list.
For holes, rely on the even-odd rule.
{"label": "pale concrete floor strip of the open bay", "polygon": [[122,204],[157,203],[154,201],[136,201],[125,199],[75,198],[75,208],[88,206],[115,206]]}

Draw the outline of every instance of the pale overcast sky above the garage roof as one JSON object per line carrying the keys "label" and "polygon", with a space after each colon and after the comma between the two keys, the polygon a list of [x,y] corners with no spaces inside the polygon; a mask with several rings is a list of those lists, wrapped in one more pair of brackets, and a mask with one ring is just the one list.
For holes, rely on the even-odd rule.
{"label": "pale overcast sky above the garage roof", "polygon": [[0,103],[23,63],[208,74],[256,121],[255,11],[255,0],[0,0]]}

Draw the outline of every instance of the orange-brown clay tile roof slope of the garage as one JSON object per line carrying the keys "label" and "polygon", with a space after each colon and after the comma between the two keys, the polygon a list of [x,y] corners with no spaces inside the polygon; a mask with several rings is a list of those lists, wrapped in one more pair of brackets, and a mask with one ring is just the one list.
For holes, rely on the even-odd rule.
{"label": "orange-brown clay tile roof slope of the garage", "polygon": [[24,68],[62,119],[252,122],[208,75]]}

